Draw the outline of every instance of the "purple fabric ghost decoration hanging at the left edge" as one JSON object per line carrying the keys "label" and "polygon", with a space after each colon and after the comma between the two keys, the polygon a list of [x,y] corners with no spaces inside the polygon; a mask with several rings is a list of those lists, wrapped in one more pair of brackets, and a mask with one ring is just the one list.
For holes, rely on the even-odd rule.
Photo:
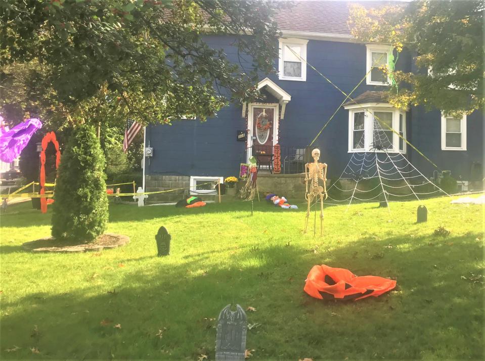
{"label": "purple fabric ghost decoration hanging at the left edge", "polygon": [[0,160],[10,163],[16,159],[41,126],[42,123],[36,118],[27,119],[12,129],[0,126]]}

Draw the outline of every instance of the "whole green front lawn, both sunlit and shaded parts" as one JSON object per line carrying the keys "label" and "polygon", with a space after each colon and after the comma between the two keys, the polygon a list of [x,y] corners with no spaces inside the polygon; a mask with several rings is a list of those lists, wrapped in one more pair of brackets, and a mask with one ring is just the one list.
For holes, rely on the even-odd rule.
{"label": "whole green front lawn, both sunlit and shaded parts", "polygon": [[[417,202],[393,203],[391,213],[376,203],[328,207],[322,239],[302,235],[304,205],[254,202],[251,216],[247,202],[113,204],[108,232],[130,243],[81,254],[23,251],[50,234],[51,213],[12,206],[0,229],[0,355],[213,360],[213,319],[239,303],[256,308],[248,321],[260,324],[248,331],[251,359],[483,359],[483,284],[469,280],[485,265],[483,208],[449,202],[427,200],[419,224]],[[172,244],[158,258],[161,225]],[[450,235],[434,235],[438,227]],[[357,302],[313,299],[304,280],[322,263],[398,287]]]}

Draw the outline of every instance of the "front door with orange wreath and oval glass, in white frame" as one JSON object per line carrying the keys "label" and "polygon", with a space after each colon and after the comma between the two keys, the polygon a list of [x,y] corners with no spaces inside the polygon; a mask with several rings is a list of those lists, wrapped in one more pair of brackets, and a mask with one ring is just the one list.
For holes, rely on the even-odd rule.
{"label": "front door with orange wreath and oval glass, in white frame", "polygon": [[273,154],[278,143],[278,105],[253,105],[250,108],[250,144],[248,159],[256,154]]}

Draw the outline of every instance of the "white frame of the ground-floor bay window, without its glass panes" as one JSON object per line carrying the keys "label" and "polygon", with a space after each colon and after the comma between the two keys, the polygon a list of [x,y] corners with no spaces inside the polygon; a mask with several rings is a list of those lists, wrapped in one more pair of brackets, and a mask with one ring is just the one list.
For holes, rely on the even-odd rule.
{"label": "white frame of the ground-floor bay window, without its glass panes", "polygon": [[[399,133],[399,115],[403,115],[403,137],[406,138],[406,112],[396,109],[388,103],[373,103],[363,105],[351,105],[348,109],[348,153],[369,152],[374,142],[374,112],[392,112],[392,129]],[[365,112],[364,114],[364,148],[353,148],[354,145],[354,114]],[[389,129],[383,129],[389,130]],[[387,149],[387,153],[406,154],[406,142],[403,142],[403,149],[399,149],[399,136],[392,132],[392,149]],[[372,150],[372,152],[384,153],[384,150]]]}

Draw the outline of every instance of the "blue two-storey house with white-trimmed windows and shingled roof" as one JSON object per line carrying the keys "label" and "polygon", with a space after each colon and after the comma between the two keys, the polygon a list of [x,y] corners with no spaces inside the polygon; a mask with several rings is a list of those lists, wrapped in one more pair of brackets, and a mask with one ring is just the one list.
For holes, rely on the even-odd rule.
{"label": "blue two-storey house with white-trimmed windows and shingled roof", "polygon": [[[388,133],[387,152],[402,153],[427,177],[436,176],[437,169],[449,170],[463,190],[470,182],[480,181],[482,114],[474,112],[454,119],[442,116],[439,109],[426,112],[422,107],[411,107],[400,111],[388,104],[385,93],[389,79],[378,66],[387,63],[391,47],[359,43],[352,37],[347,25],[350,4],[300,1],[277,15],[282,31],[282,37],[275,39],[279,42],[279,57],[275,59],[278,73],[261,76],[257,102],[231,104],[206,122],[187,119],[171,126],[147,126],[145,147],[153,151],[145,157],[145,190],[190,185],[192,194],[213,192],[213,185],[208,187],[207,182],[237,176],[241,163],[247,163],[251,155],[272,154],[277,144],[281,148],[281,173],[268,177],[301,173],[308,159],[306,147],[334,112],[311,147],[320,149],[321,161],[328,164],[329,179],[338,178],[352,153],[372,148],[373,117],[379,116],[437,168],[392,132]],[[238,61],[231,35],[207,35],[205,40]],[[357,103],[347,100],[339,108],[345,96],[308,64],[346,94],[365,78],[351,96]],[[396,69],[415,71],[413,54],[403,51]],[[261,168],[272,170],[275,166],[273,161],[264,162],[271,159],[269,156],[259,159]],[[172,194],[160,199],[180,197]]]}

